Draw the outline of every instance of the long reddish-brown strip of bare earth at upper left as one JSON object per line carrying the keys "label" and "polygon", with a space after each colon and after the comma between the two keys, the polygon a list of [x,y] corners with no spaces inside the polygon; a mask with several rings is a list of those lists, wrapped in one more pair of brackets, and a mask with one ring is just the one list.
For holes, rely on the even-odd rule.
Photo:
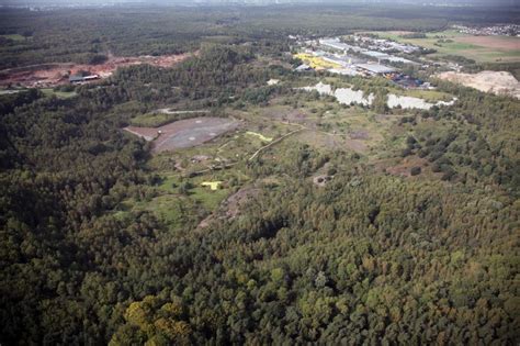
{"label": "long reddish-brown strip of bare earth at upper left", "polygon": [[110,57],[104,64],[80,65],[74,63],[42,64],[0,70],[0,86],[20,85],[22,87],[55,87],[68,83],[68,76],[79,71],[89,71],[101,78],[110,77],[118,67],[149,64],[171,67],[190,57],[190,54],[139,57]]}

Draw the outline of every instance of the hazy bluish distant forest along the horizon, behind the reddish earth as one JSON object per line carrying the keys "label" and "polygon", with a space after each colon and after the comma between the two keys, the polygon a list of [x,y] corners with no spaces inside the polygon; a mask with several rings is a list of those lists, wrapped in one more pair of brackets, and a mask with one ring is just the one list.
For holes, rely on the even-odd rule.
{"label": "hazy bluish distant forest along the horizon, behind the reddish earth", "polygon": [[[504,9],[414,5],[104,8],[0,12],[0,69],[49,62],[95,64],[108,54],[192,52],[202,42],[284,41],[289,34],[346,34],[352,30],[442,30],[451,23],[511,22]],[[18,34],[13,37],[10,35]]]}

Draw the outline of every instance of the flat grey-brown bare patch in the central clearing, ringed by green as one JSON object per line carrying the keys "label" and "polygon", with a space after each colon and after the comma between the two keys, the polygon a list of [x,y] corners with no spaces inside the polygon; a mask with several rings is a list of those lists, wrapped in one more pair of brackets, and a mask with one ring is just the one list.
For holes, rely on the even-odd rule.
{"label": "flat grey-brown bare patch in the central clearing, ringed by green", "polygon": [[[154,141],[155,153],[186,148],[211,141],[237,129],[239,122],[226,118],[193,118],[160,127],[128,126],[124,130],[146,141]],[[160,133],[159,133],[160,132]]]}

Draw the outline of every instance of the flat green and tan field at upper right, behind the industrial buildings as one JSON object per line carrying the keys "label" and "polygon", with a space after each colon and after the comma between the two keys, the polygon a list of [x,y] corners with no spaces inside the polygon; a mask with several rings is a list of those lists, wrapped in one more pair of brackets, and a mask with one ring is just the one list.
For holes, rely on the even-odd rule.
{"label": "flat green and tan field at upper right, behind the industrial buildings", "polygon": [[[427,38],[404,38],[396,32],[371,32],[380,37],[409,43],[425,48],[436,49],[432,56],[457,55],[477,63],[515,63],[520,62],[520,38],[493,36],[479,40],[456,31],[427,33]],[[482,42],[481,42],[482,41]]]}

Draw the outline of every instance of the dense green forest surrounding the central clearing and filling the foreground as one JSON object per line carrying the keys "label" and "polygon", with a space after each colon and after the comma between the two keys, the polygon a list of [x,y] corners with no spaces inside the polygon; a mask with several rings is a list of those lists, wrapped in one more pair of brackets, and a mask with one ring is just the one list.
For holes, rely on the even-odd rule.
{"label": "dense green forest surrounding the central clearing and filling the foreground", "polygon": [[[347,27],[347,11],[329,11],[319,15],[337,21],[319,30],[360,25]],[[200,54],[168,69],[118,69],[76,87],[70,99],[36,89],[0,96],[0,343],[517,345],[518,100],[439,83],[461,102],[410,111],[396,125],[404,145],[387,153],[427,160],[430,177],[396,177],[363,155],[299,143],[276,153],[281,159],[238,163],[259,187],[238,217],[201,228],[207,215],[200,205],[183,205],[176,223],[122,208],[160,193],[150,144],[121,131],[135,114],[178,102],[215,113],[265,108],[292,93],[265,87],[270,78],[301,78],[281,54],[292,24],[259,30],[257,21],[278,20],[248,12],[235,21],[216,9],[154,12],[154,20],[129,11],[121,22],[24,12],[32,38],[26,51],[2,51],[2,66],[48,52],[75,58],[87,46]],[[421,23],[443,25],[441,16]],[[86,22],[77,25],[78,18]],[[143,21],[157,31],[143,30]],[[405,27],[395,23],[377,25]],[[75,31],[65,34],[66,27]],[[229,27],[236,41],[203,42]],[[102,33],[99,42],[94,32]],[[256,44],[237,44],[253,35],[260,35]],[[56,47],[60,37],[75,48]],[[275,63],[262,64],[265,58]],[[336,167],[335,178],[318,189],[309,177],[325,164]]]}

